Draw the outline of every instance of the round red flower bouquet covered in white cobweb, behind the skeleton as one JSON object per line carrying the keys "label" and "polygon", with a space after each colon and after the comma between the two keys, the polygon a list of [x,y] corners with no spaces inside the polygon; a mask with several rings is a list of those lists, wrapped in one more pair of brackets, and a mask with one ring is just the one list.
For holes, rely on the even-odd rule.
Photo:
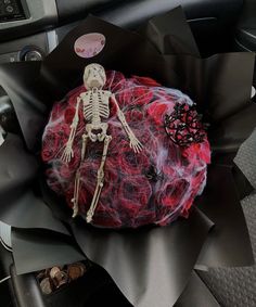
{"label": "round red flower bouquet covered in white cobweb, behind the skeleton", "polygon": [[[137,228],[149,223],[164,226],[178,216],[187,217],[194,197],[204,188],[210,162],[207,136],[192,101],[151,78],[133,76],[127,79],[118,72],[107,72],[106,76],[105,89],[115,93],[130,128],[143,144],[143,151],[135,154],[130,149],[111,102],[107,133],[112,141],[104,167],[104,187],[92,223],[106,228]],[[55,103],[42,142],[41,156],[48,166],[48,184],[64,195],[71,207],[86,125],[82,110],[79,111],[73,146],[74,158],[69,164],[63,164],[61,153],[71,131],[77,97],[82,91],[86,91],[84,86],[76,88],[65,100]],[[184,123],[188,127],[179,126]],[[184,143],[191,135],[193,140]],[[91,204],[102,149],[102,143],[89,142],[80,166],[81,216]]]}

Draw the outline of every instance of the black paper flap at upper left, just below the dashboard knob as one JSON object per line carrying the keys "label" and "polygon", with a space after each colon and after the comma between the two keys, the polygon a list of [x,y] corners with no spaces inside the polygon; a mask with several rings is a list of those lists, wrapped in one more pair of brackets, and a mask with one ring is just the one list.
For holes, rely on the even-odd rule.
{"label": "black paper flap at upper left, just below the dashboard knob", "polygon": [[[37,88],[40,62],[3,64],[0,69],[1,86],[10,97],[27,148],[40,143],[41,129],[47,120],[47,106],[42,102],[43,89]],[[47,100],[47,98],[46,98]],[[40,135],[39,135],[40,133]],[[38,142],[38,143],[37,143]]]}

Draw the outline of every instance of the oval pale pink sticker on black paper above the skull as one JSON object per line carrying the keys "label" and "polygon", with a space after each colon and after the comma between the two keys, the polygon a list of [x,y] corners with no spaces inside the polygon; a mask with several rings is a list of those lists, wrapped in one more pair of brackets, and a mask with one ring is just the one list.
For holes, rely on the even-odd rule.
{"label": "oval pale pink sticker on black paper above the skull", "polygon": [[105,46],[105,37],[100,33],[90,33],[80,36],[75,41],[75,52],[81,57],[93,57],[99,54]]}

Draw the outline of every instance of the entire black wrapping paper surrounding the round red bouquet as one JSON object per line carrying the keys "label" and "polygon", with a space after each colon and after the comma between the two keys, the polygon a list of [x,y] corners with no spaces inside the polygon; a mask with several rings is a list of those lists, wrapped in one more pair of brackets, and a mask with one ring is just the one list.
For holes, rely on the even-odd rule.
{"label": "entire black wrapping paper surrounding the round red bouquet", "polygon": [[[3,204],[0,219],[11,221],[15,227],[14,259],[18,272],[56,265],[56,259],[63,263],[63,248],[56,248],[59,239],[50,233],[61,235],[60,240],[66,246],[75,246],[69,239],[73,235],[84,256],[103,266],[132,305],[166,307],[178,299],[196,263],[204,266],[252,264],[247,229],[232,179],[232,162],[223,158],[225,165],[219,165],[218,156],[235,153],[255,125],[256,106],[248,104],[254,54],[227,53],[200,59],[179,10],[153,18],[140,34],[89,16],[66,36],[41,65],[13,63],[0,66],[1,86],[13,102],[24,139],[16,145],[7,142],[4,151],[0,148],[0,201]],[[169,27],[170,20],[176,27]],[[152,29],[154,36],[151,36]],[[106,37],[106,46],[92,60],[81,59],[74,52],[74,42],[79,36],[91,31],[102,33]],[[178,39],[178,34],[182,39]],[[165,228],[146,227],[137,231],[94,229],[79,218],[72,220],[68,217],[65,204],[48,191],[34,163],[28,163],[24,172],[28,172],[24,188],[18,179],[23,178],[24,171],[20,163],[15,165],[17,176],[5,184],[8,190],[2,184],[9,169],[9,153],[15,152],[16,148],[18,155],[23,148],[24,158],[34,161],[33,155],[37,156],[40,150],[41,135],[52,103],[80,85],[84,67],[91,62],[127,75],[150,76],[165,86],[184,91],[197,103],[205,120],[210,123],[214,163],[209,169],[207,188],[197,200],[199,209],[194,209],[188,220],[179,219]],[[13,157],[16,158],[20,157]],[[220,178],[225,179],[221,180],[221,187]],[[11,196],[16,191],[15,180],[21,194]],[[40,192],[31,189],[33,180],[34,183],[40,181]],[[22,200],[26,193],[33,196],[25,206]],[[46,209],[39,221],[37,208],[43,205]],[[23,225],[21,217],[26,214],[29,221],[24,219]],[[68,227],[63,231],[65,225]],[[46,233],[38,232],[36,228],[46,229]],[[39,244],[40,235],[42,245]],[[42,248],[43,244],[48,247]],[[37,257],[26,267],[22,264],[24,253],[21,250],[24,246],[30,246],[27,248],[29,259]],[[65,251],[69,248],[66,246]],[[77,260],[78,254],[73,250],[67,253],[71,263]]]}

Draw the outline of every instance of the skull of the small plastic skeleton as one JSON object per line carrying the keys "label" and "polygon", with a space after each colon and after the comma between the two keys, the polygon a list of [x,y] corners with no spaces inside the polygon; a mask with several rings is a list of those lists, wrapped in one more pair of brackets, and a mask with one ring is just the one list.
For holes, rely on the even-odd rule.
{"label": "skull of the small plastic skeleton", "polygon": [[85,87],[90,90],[93,88],[102,89],[106,81],[105,69],[100,64],[86,66],[84,73]]}

